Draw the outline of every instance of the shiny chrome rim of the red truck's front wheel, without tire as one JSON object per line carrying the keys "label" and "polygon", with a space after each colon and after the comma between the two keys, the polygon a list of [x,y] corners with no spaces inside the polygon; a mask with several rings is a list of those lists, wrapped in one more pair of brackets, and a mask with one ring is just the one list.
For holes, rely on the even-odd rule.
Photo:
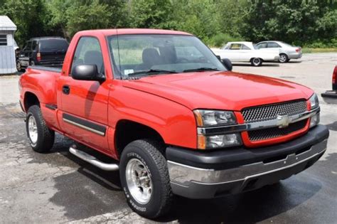
{"label": "shiny chrome rim of the red truck's front wheel, without tire", "polygon": [[153,189],[149,169],[139,159],[130,159],[125,173],[127,187],[134,200],[143,205],[148,203]]}

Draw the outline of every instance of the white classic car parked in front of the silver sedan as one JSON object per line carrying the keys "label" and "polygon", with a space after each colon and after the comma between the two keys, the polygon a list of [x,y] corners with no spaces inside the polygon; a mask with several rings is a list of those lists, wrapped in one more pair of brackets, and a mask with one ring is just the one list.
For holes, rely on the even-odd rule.
{"label": "white classic car parked in front of the silver sedan", "polygon": [[211,48],[221,59],[228,58],[232,62],[250,62],[254,66],[262,65],[263,61],[278,61],[279,50],[257,50],[252,42],[228,42],[223,48]]}

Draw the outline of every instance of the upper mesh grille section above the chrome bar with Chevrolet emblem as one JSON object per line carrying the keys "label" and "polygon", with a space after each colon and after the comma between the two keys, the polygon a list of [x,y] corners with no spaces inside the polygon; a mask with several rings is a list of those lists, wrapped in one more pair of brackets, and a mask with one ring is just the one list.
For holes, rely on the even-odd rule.
{"label": "upper mesh grille section above the chrome bar with Chevrolet emblem", "polygon": [[258,107],[249,107],[242,110],[242,116],[245,122],[260,122],[269,119],[277,119],[277,115],[288,116],[306,112],[306,101],[298,100],[283,102],[274,105],[263,105]]}

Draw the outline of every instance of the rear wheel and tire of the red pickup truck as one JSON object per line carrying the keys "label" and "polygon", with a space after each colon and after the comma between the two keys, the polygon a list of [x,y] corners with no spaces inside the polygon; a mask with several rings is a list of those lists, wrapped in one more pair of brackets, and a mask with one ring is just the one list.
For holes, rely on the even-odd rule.
{"label": "rear wheel and tire of the red pickup truck", "polygon": [[53,147],[55,132],[47,127],[38,105],[33,105],[28,109],[26,132],[29,143],[34,151],[41,153],[48,152]]}

